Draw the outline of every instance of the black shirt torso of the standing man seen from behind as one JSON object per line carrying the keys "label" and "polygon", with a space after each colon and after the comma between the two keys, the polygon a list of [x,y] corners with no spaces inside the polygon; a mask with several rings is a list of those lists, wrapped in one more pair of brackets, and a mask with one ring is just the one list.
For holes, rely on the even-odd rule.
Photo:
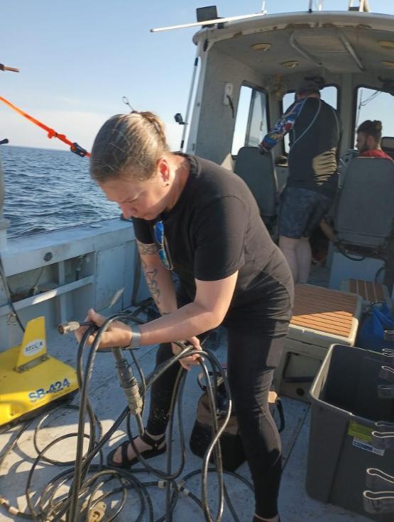
{"label": "black shirt torso of the standing man seen from behind", "polygon": [[338,186],[339,118],[332,106],[319,98],[306,98],[295,104],[301,104],[301,110],[290,132],[287,187],[334,197]]}

